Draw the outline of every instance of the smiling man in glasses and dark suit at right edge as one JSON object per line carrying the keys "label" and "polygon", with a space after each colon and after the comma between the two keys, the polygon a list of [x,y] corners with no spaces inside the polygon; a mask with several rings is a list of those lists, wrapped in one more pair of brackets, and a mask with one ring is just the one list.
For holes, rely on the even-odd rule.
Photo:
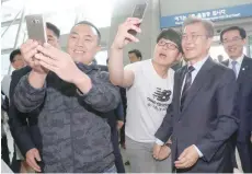
{"label": "smiling man in glasses and dark suit at right edge", "polygon": [[228,27],[220,34],[220,40],[229,56],[224,65],[234,71],[239,86],[238,114],[240,126],[236,135],[236,147],[243,172],[252,173],[252,146],[250,141],[252,127],[252,59],[243,55],[245,38],[245,31],[239,26]]}

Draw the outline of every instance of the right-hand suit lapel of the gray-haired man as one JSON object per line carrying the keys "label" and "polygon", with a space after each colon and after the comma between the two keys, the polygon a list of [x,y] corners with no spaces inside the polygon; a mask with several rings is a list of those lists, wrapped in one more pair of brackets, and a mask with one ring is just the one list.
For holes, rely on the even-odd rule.
{"label": "right-hand suit lapel of the gray-haired man", "polygon": [[182,113],[186,109],[188,104],[193,101],[193,98],[198,93],[198,91],[201,90],[203,84],[205,84],[205,82],[209,80],[208,79],[209,70],[211,69],[213,66],[214,66],[214,62],[213,62],[211,58],[209,57],[206,60],[206,62],[203,65],[201,70],[198,71],[196,78],[193,81],[193,84],[190,88],[188,94],[187,94],[185,102],[184,102],[184,107],[183,107]]}

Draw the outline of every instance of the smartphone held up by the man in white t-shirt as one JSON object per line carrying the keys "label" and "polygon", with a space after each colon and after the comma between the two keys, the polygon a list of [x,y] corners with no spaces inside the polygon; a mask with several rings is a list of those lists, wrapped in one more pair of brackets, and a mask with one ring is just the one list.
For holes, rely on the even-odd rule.
{"label": "smartphone held up by the man in white t-shirt", "polygon": [[[147,9],[147,2],[136,4],[136,7],[135,7],[135,9],[133,11],[133,15],[131,16],[133,18],[138,18],[138,19],[144,19],[146,9]],[[140,23],[137,26],[139,27]],[[134,36],[137,35],[137,32],[134,31],[134,30],[129,30],[128,33],[131,34],[131,35],[134,35]]]}

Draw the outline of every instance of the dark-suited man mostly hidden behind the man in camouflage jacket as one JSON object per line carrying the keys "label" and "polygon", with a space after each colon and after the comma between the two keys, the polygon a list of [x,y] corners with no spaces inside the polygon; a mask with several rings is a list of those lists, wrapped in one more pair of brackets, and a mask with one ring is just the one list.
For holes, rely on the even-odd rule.
{"label": "dark-suited man mostly hidden behind the man in camouflage jacket", "polygon": [[[60,31],[51,23],[46,23],[47,39],[50,45],[59,48]],[[37,127],[37,115],[39,111],[32,113],[21,113],[13,104],[13,94],[20,79],[27,74],[32,69],[24,67],[15,70],[11,77],[10,84],[10,109],[9,125],[13,139],[19,147],[21,153],[25,156],[27,164],[35,171],[41,171],[39,161],[42,149],[41,132]],[[15,167],[19,169],[19,167]],[[14,172],[19,172],[14,170]]]}

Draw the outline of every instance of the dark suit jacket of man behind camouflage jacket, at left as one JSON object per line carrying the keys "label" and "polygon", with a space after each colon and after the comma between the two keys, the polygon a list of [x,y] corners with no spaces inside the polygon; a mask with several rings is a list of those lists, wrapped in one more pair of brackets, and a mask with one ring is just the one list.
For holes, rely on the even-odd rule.
{"label": "dark suit jacket of man behind camouflage jacket, at left", "polygon": [[21,113],[13,104],[13,94],[20,79],[31,71],[30,67],[24,67],[15,70],[12,73],[10,85],[10,109],[9,109],[9,125],[11,134],[21,153],[25,156],[26,152],[33,148],[41,150],[42,138],[37,127],[38,111],[32,113]]}

